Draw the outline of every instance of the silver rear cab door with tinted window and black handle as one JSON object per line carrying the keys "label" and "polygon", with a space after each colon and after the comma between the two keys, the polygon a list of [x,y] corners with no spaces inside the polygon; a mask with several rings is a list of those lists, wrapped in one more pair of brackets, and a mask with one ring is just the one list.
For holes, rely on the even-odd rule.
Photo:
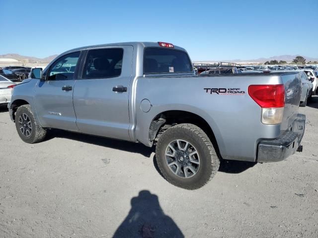
{"label": "silver rear cab door with tinted window and black handle", "polygon": [[81,132],[129,140],[132,58],[132,46],[87,50],[73,95]]}

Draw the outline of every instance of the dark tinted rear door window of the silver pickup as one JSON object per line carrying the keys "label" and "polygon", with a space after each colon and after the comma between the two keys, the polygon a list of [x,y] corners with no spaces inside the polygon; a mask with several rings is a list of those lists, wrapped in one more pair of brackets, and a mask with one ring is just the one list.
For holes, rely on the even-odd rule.
{"label": "dark tinted rear door window of the silver pickup", "polygon": [[87,53],[82,78],[110,78],[121,74],[122,48],[90,50]]}

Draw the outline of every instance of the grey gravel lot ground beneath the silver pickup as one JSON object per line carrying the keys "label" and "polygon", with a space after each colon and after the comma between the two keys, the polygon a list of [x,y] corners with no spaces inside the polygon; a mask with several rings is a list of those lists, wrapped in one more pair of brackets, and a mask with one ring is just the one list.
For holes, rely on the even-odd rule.
{"label": "grey gravel lot ground beneath the silver pickup", "polygon": [[201,189],[166,182],[153,149],[55,131],[18,137],[0,109],[0,237],[318,237],[318,97],[303,153],[279,163],[222,162]]}

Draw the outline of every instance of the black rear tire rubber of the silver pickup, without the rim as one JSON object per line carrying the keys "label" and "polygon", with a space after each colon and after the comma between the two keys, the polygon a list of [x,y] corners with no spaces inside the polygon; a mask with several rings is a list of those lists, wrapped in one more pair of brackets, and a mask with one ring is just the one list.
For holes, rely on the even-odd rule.
{"label": "black rear tire rubber of the silver pickup, without the rim", "polygon": [[[175,140],[189,142],[198,152],[200,167],[196,174],[190,178],[181,178],[173,173],[168,166],[167,158],[169,159],[169,157],[165,155],[166,150],[168,145]],[[205,185],[215,176],[220,166],[220,160],[207,134],[200,127],[188,123],[172,126],[159,137],[156,159],[160,172],[168,182],[189,190],[198,189]],[[182,173],[182,169],[180,173]],[[183,174],[185,174],[184,169]]]}

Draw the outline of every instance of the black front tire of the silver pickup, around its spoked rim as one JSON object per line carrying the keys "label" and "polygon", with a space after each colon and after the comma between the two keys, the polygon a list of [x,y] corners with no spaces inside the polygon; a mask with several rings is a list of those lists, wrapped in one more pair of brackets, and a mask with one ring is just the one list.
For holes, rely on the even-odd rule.
{"label": "black front tire of the silver pickup, around its spoked rim", "polygon": [[[20,129],[20,125],[21,125],[21,120],[20,117],[23,120],[23,117],[25,117],[24,115],[27,116],[28,120],[31,124],[31,129],[28,129],[29,134],[25,135],[23,134],[24,130]],[[22,123],[22,126],[25,126],[27,123]],[[44,140],[45,136],[46,136],[46,129],[41,127],[38,122],[35,119],[35,116],[31,110],[31,106],[30,105],[22,105],[20,106],[15,113],[15,127],[16,130],[20,136],[20,138],[29,144],[33,144],[33,143],[38,143]],[[23,132],[22,132],[23,131]]]}

